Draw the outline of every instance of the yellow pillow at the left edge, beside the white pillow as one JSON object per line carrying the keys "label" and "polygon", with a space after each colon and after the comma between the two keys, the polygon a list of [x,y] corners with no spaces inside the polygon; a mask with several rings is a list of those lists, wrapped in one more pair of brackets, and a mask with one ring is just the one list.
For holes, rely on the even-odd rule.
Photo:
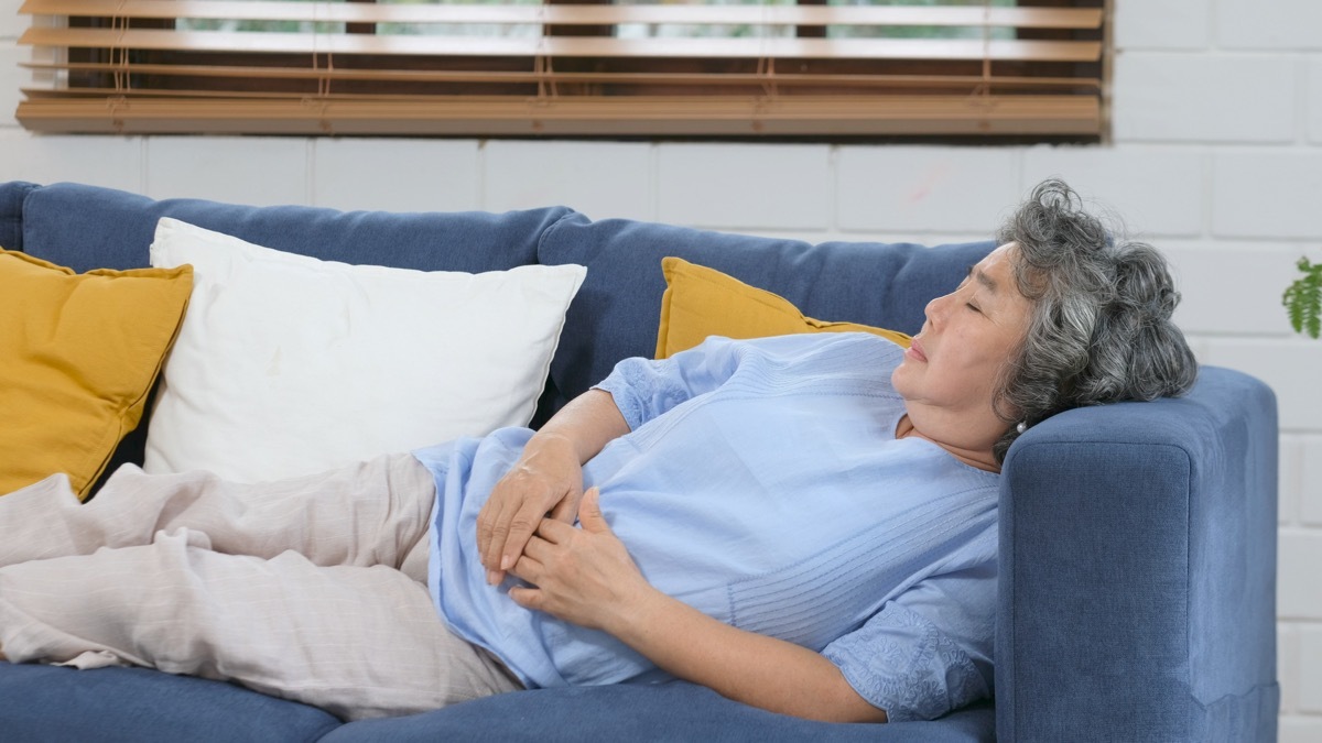
{"label": "yellow pillow at the left edge, beside the white pillow", "polygon": [[0,249],[0,494],[56,472],[85,498],[175,341],[193,267],[75,274]]}

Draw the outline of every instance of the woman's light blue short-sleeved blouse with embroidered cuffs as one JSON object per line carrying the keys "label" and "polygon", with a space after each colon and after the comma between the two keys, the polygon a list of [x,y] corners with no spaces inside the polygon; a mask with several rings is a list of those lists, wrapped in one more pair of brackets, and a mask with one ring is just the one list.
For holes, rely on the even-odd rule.
{"label": "woman's light blue short-sleeved blouse with embroidered cuffs", "polygon": [[[599,387],[631,432],[583,471],[653,586],[821,652],[896,722],[990,695],[999,480],[895,438],[900,358],[875,336],[824,333],[623,361]],[[527,686],[668,678],[485,583],[477,513],[530,436],[414,452],[436,479],[428,578],[442,616]]]}

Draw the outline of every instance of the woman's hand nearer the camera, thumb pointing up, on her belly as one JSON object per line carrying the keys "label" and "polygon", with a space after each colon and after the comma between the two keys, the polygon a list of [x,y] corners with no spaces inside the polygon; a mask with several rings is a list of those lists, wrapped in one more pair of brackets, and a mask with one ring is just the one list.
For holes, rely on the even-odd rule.
{"label": "woman's hand nearer the camera, thumb pointing up, on her belly", "polygon": [[602,516],[596,488],[583,496],[579,521],[582,529],[542,521],[512,568],[533,587],[510,588],[509,596],[524,608],[612,632],[654,591]]}

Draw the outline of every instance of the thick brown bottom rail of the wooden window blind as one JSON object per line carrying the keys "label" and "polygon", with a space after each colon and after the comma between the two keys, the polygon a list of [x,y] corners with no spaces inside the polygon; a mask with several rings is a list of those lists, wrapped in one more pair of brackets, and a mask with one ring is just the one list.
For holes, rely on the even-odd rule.
{"label": "thick brown bottom rail of the wooden window blind", "polygon": [[[157,134],[178,131],[241,132],[263,128],[284,134],[415,134],[476,135],[564,134],[628,135],[656,132],[706,134],[820,134],[883,135],[921,127],[939,134],[1092,134],[1095,100],[1077,98],[892,98],[857,99],[705,99],[609,98],[550,102],[465,98],[459,100],[354,102],[317,104],[293,100],[134,100],[29,99],[19,119],[46,131],[87,131],[82,122],[97,119],[100,132]],[[97,111],[102,108],[102,111]],[[62,128],[70,127],[70,128]]]}

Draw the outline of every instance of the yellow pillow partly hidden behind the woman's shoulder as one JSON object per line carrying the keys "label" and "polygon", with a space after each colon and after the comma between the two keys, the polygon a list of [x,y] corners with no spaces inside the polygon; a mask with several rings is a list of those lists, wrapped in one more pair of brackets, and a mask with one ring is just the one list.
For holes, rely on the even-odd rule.
{"label": "yellow pillow partly hidden behind the woman's shoulder", "polygon": [[890,338],[904,348],[910,344],[908,336],[895,331],[805,317],[779,295],[682,258],[662,258],[661,272],[665,274],[666,290],[661,295],[657,358],[693,348],[707,336],[760,338],[792,333],[863,332]]}

